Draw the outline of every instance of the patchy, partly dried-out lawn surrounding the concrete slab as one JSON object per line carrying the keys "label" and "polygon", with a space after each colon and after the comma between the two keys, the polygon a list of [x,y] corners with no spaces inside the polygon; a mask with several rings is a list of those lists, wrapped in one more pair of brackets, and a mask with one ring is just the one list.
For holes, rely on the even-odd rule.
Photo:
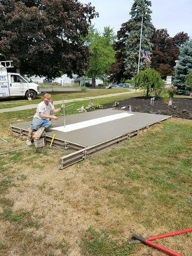
{"label": "patchy, partly dried-out lawn surrounding the concrete slab", "polygon": [[[7,140],[0,140],[1,152],[25,146],[8,127],[33,114],[0,114],[0,137]],[[133,233],[147,238],[192,226],[191,129],[190,120],[167,120],[60,171],[60,149],[0,156],[0,255],[163,256],[127,241]],[[191,237],[158,243],[190,256]]]}

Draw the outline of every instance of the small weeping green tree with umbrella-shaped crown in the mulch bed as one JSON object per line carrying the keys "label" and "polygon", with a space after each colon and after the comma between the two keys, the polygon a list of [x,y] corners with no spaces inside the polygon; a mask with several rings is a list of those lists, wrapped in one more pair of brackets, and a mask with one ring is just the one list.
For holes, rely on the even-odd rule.
{"label": "small weeping green tree with umbrella-shaped crown in the mulch bed", "polygon": [[142,87],[146,90],[146,97],[149,97],[152,91],[161,91],[165,87],[159,72],[152,68],[146,68],[135,76],[136,88]]}

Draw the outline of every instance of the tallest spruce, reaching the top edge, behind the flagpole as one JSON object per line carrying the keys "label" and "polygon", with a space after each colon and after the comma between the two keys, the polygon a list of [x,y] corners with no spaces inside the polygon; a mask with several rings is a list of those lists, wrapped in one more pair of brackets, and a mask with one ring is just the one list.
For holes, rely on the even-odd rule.
{"label": "tallest spruce, reaching the top edge, behind the flagpole", "polygon": [[[142,29],[142,49],[148,52],[151,56],[152,43],[151,37],[154,27],[151,23],[151,1],[149,0],[135,0],[132,9],[130,11],[131,18],[129,20],[130,33],[126,40],[126,58],[124,65],[126,74],[129,78],[132,78],[137,73],[137,63],[139,57],[139,45],[140,45],[140,29],[141,21],[143,17],[143,29]],[[140,67],[145,67],[145,61],[142,62],[142,54],[140,56]]]}

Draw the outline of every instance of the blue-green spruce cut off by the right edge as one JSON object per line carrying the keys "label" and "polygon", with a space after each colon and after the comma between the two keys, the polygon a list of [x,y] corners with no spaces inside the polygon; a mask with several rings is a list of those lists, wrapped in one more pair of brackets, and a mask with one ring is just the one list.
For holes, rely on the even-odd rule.
{"label": "blue-green spruce cut off by the right edge", "polygon": [[175,67],[173,84],[180,89],[185,89],[187,75],[192,72],[192,40],[187,41],[180,48],[178,60],[179,64]]}

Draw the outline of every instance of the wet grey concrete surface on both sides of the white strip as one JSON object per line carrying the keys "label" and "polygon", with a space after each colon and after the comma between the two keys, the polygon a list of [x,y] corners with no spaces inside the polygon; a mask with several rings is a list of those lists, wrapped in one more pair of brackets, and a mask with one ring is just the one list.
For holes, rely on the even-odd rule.
{"label": "wet grey concrete surface on both sides of the white strip", "polygon": [[[73,114],[66,116],[66,126],[73,124],[77,126],[78,123],[100,119],[101,117],[114,116],[116,114],[123,114],[126,111],[116,109],[97,110],[88,113]],[[158,123],[159,121],[168,119],[170,116],[148,113],[134,112],[132,116],[105,121],[104,123],[94,124],[92,126],[84,127],[81,129],[71,130],[70,132],[62,132],[57,127],[63,127],[63,117],[58,120],[52,120],[52,129],[46,132],[47,136],[56,134],[57,139],[65,140],[82,146],[93,146],[98,143],[105,142],[106,140],[113,139],[114,137],[124,135],[129,132],[141,129],[151,124]],[[27,130],[30,126],[28,123],[12,124],[11,126],[17,127],[21,130]],[[53,130],[54,129],[54,130]]]}

